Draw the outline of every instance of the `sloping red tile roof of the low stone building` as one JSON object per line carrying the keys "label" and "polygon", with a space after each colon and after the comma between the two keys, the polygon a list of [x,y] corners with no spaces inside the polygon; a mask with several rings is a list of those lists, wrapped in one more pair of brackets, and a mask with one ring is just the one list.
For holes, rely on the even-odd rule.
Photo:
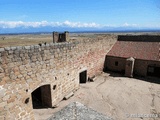
{"label": "sloping red tile roof of the low stone building", "polygon": [[160,61],[160,42],[117,41],[107,55]]}

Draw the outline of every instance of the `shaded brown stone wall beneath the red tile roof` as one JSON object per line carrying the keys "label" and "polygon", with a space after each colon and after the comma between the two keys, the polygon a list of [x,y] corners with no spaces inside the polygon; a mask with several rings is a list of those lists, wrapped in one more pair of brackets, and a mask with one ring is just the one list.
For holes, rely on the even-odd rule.
{"label": "shaded brown stone wall beneath the red tile roof", "polygon": [[[127,58],[115,57],[115,56],[106,56],[106,62],[104,66],[104,70],[110,70],[115,72],[125,72],[125,65],[126,65]],[[118,65],[116,65],[118,62]],[[159,61],[152,61],[152,60],[141,60],[135,59],[134,62],[134,69],[133,73],[137,76],[146,77],[147,76],[147,69],[149,65],[154,65],[160,67]]]}

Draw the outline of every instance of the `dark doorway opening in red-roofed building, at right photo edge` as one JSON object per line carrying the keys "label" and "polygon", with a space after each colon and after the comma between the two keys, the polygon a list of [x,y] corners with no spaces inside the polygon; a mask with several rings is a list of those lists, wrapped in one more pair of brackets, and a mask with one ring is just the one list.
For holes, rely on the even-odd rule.
{"label": "dark doorway opening in red-roofed building, at right photo edge", "polygon": [[148,66],[147,75],[160,78],[160,67]]}

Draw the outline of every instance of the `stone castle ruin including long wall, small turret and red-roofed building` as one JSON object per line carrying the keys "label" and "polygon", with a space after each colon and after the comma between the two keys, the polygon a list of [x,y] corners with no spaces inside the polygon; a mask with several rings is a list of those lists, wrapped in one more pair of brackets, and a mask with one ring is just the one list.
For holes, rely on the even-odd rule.
{"label": "stone castle ruin including long wall, small turret and red-roofed building", "polygon": [[54,32],[50,44],[0,48],[0,119],[34,120],[34,108],[57,105],[103,70],[159,77],[159,37],[127,39],[67,42],[68,32]]}

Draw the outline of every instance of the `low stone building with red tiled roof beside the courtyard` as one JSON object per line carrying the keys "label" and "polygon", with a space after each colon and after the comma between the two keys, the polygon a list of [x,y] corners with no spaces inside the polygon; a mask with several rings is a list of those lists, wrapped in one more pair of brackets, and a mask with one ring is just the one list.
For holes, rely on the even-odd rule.
{"label": "low stone building with red tiled roof beside the courtyard", "polygon": [[106,56],[105,69],[126,73],[126,60],[131,57],[135,59],[132,74],[160,77],[160,36],[118,36]]}

